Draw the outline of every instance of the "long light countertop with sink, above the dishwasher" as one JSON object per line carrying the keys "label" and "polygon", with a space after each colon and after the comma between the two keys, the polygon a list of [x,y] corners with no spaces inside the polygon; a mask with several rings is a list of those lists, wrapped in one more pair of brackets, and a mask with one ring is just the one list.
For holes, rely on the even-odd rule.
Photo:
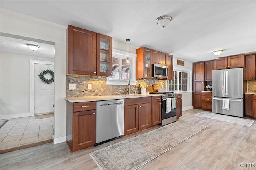
{"label": "long light countertop with sink, above the dishwasher", "polygon": [[127,99],[127,98],[141,98],[149,96],[161,96],[161,94],[120,94],[120,95],[106,95],[106,96],[84,96],[84,97],[67,97],[65,98],[68,102],[92,102],[100,100],[116,100],[116,99]]}

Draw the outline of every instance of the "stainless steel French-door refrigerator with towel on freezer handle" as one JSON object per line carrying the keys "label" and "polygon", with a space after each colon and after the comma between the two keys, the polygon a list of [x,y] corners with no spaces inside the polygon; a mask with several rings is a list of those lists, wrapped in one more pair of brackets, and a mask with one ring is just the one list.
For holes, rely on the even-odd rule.
{"label": "stainless steel French-door refrigerator with towel on freezer handle", "polygon": [[212,112],[244,117],[246,71],[232,68],[212,71]]}

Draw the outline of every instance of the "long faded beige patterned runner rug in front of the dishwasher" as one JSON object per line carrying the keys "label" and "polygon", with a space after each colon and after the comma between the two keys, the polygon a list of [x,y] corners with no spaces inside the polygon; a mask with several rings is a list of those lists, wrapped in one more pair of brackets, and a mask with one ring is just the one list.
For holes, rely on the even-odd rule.
{"label": "long faded beige patterned runner rug in front of the dishwasher", "polygon": [[136,170],[205,129],[178,121],[90,153],[102,170]]}

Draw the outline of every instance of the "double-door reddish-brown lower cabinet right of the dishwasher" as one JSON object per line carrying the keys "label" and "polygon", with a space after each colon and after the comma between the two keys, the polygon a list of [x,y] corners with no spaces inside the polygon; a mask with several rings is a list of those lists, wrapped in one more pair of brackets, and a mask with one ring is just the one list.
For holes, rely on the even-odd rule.
{"label": "double-door reddish-brown lower cabinet right of the dishwasher", "polygon": [[152,97],[124,100],[124,135],[152,126]]}

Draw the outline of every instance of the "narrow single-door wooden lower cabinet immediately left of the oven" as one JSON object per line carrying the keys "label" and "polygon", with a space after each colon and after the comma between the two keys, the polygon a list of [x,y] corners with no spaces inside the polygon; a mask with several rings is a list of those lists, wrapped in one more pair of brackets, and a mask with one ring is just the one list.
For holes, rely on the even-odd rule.
{"label": "narrow single-door wooden lower cabinet immediately left of the oven", "polygon": [[161,96],[152,97],[152,126],[162,123]]}

